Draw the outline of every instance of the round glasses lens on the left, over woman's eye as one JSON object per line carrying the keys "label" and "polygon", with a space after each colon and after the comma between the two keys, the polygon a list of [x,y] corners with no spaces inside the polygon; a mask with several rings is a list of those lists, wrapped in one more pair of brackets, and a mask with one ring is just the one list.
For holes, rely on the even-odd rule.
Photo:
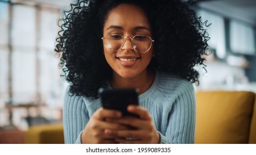
{"label": "round glasses lens on the left, over woman's eye", "polygon": [[122,46],[122,35],[120,34],[107,34],[103,39],[103,44],[106,49],[110,51],[117,51]]}

